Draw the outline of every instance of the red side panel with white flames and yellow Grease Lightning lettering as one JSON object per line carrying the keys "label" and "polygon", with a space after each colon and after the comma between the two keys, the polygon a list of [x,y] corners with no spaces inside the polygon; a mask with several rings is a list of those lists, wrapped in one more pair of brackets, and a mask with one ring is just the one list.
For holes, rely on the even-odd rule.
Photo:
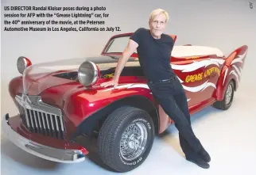
{"label": "red side panel with white flames and yellow Grease Lightning lettering", "polygon": [[219,60],[210,56],[172,58],[171,66],[184,87],[188,106],[211,99],[221,70]]}

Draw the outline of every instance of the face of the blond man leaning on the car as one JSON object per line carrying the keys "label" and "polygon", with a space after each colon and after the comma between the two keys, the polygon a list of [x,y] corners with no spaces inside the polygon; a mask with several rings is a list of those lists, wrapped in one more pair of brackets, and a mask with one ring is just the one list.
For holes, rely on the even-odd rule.
{"label": "face of the blond man leaning on the car", "polygon": [[149,28],[154,38],[161,38],[161,34],[165,31],[166,17],[159,14],[149,21]]}

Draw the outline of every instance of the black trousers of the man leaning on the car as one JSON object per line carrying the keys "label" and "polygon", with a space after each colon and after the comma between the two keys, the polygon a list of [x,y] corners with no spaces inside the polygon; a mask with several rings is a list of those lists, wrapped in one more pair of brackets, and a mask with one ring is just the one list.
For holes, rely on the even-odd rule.
{"label": "black trousers of the man leaning on the car", "polygon": [[195,158],[202,145],[192,131],[188,101],[179,79],[172,78],[162,82],[148,82],[153,97],[165,113],[174,121],[179,131],[180,146],[186,158]]}

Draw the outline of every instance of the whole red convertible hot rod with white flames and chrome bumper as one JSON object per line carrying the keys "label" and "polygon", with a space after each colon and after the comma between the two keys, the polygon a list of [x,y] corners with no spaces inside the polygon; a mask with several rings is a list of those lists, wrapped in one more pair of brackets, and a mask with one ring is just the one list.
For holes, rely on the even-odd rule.
{"label": "whole red convertible hot rod with white flames and chrome bumper", "polygon": [[[115,89],[99,86],[114,75],[132,34],[112,36],[98,57],[35,65],[19,57],[22,75],[9,84],[19,113],[7,113],[2,121],[8,139],[30,154],[72,163],[83,162],[89,153],[76,138],[96,132],[99,157],[106,165],[118,172],[141,165],[154,135],[173,120],[153,99],[137,53],[126,63]],[[247,49],[243,45],[225,56],[218,48],[174,46],[170,64],[184,86],[191,114],[209,105],[223,110],[231,106]]]}

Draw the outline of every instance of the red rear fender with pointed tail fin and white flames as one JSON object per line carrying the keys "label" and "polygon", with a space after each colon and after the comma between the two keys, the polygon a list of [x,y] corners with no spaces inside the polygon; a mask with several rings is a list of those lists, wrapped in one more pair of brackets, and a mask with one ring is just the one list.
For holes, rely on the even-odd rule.
{"label": "red rear fender with pointed tail fin and white flames", "polygon": [[235,82],[235,91],[239,87],[239,82],[242,76],[242,68],[246,60],[248,46],[243,45],[235,49],[227,56],[223,69],[221,70],[219,80],[217,82],[216,99],[222,101],[228,83],[232,80]]}

